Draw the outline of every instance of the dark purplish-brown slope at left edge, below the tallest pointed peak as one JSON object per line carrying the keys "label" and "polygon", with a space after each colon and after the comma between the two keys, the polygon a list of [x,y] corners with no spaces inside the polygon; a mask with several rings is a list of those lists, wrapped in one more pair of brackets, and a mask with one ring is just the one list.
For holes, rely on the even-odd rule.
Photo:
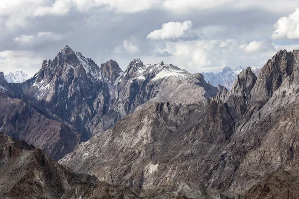
{"label": "dark purplish-brown slope at left edge, below the tallest pointed peak", "polygon": [[55,160],[73,151],[82,140],[70,125],[49,119],[43,110],[23,100],[0,94],[0,110],[0,131],[34,144]]}

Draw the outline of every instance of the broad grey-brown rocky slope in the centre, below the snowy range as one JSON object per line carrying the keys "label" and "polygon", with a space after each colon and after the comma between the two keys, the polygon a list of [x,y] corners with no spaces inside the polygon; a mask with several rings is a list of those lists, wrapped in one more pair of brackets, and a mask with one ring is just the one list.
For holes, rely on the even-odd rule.
{"label": "broad grey-brown rocky slope in the centre, below the snowy range", "polygon": [[[202,107],[148,104],[79,145],[60,163],[114,185],[143,189],[173,182],[218,182],[224,177],[208,170],[223,159],[217,149],[230,139],[234,121],[223,103]],[[213,160],[205,159],[210,153]]]}

